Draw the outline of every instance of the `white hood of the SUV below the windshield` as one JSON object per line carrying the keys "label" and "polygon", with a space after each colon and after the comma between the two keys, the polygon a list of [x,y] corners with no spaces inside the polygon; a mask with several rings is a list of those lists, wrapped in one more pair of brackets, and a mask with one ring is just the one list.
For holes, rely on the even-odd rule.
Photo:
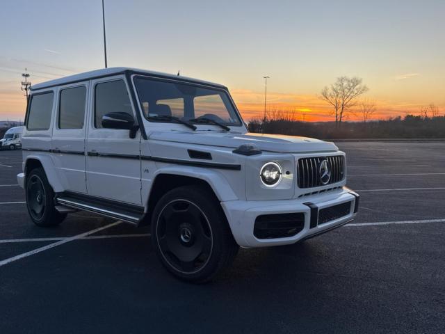
{"label": "white hood of the SUV below the windshield", "polygon": [[276,134],[236,134],[230,132],[153,132],[149,139],[238,148],[243,144],[254,144],[262,151],[280,153],[336,151],[334,143],[314,138],[282,136]]}

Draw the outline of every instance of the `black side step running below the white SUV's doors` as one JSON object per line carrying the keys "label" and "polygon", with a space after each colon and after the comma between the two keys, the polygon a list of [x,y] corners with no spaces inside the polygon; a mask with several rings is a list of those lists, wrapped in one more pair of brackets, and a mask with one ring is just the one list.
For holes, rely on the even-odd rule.
{"label": "black side step running below the white SUV's doors", "polygon": [[70,207],[72,209],[85,210],[101,214],[121,221],[127,221],[134,225],[139,225],[144,216],[144,207],[118,202],[115,200],[106,200],[95,196],[88,196],[79,193],[57,193],[56,201],[59,205]]}

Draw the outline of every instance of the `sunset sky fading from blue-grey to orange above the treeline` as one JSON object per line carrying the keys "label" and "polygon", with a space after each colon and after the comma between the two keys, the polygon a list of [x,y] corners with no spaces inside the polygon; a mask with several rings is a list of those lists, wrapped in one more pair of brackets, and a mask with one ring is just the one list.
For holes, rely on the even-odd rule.
{"label": "sunset sky fading from blue-grey to orange above the treeline", "polygon": [[[24,118],[31,82],[104,67],[101,0],[0,3],[0,120]],[[332,120],[318,99],[339,76],[363,78],[374,118],[445,113],[445,1],[106,0],[108,66],[225,84],[249,120],[268,105]],[[355,117],[351,116],[350,120]]]}

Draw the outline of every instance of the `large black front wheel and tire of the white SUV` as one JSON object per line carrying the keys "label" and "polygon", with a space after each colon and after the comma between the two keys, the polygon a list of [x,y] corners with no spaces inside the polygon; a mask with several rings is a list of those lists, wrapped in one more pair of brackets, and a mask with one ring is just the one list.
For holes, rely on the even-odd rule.
{"label": "large black front wheel and tire of the white SUV", "polygon": [[202,186],[172,189],[157,202],[152,243],[170,273],[193,283],[214,278],[239,249],[220,203]]}

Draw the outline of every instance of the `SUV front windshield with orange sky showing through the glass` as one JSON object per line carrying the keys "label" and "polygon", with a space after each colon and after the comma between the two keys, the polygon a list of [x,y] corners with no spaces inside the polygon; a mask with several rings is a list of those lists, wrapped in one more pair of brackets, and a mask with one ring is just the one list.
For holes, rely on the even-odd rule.
{"label": "SUV front windshield with orange sky showing through the glass", "polygon": [[174,116],[184,121],[208,118],[222,125],[241,126],[225,90],[143,77],[137,77],[135,84],[148,120],[158,116]]}

